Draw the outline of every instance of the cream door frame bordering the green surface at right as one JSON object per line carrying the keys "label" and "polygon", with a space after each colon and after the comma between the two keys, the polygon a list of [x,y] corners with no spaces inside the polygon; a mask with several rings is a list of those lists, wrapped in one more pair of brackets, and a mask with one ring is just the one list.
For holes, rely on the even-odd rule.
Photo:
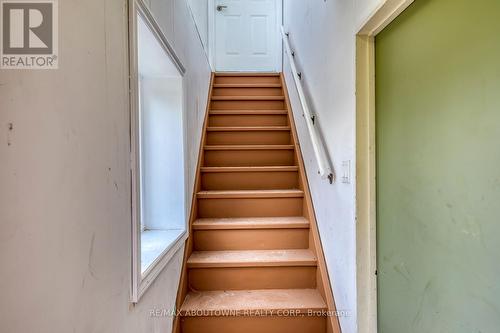
{"label": "cream door frame bordering the green surface at right", "polygon": [[358,333],[377,332],[375,36],[415,0],[386,0],[356,34],[356,290]]}

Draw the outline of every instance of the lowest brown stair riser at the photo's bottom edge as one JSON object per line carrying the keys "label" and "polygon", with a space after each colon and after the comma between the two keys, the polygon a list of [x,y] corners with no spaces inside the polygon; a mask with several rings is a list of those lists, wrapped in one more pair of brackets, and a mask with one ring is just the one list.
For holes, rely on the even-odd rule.
{"label": "lowest brown stair riser at the photo's bottom edge", "polygon": [[326,318],[314,316],[184,317],[183,333],[318,333],[326,332]]}

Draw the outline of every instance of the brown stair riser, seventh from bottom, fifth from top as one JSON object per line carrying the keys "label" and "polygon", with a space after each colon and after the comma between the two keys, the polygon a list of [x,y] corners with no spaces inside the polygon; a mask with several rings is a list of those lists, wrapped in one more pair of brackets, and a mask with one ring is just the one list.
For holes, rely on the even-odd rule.
{"label": "brown stair riser, seventh from bottom, fifth from top", "polygon": [[288,145],[290,131],[207,132],[208,145]]}

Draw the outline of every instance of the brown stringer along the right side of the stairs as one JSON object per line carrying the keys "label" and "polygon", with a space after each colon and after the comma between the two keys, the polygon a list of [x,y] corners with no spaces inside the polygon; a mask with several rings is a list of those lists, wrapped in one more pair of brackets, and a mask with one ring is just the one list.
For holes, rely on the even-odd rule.
{"label": "brown stringer along the right side of the stairs", "polygon": [[[333,290],[331,287],[331,279],[328,274],[326,260],[323,253],[323,246],[321,243],[321,237],[318,230],[318,224],[316,221],[316,214],[314,212],[314,205],[312,202],[311,192],[309,189],[309,182],[307,180],[307,174],[305,172],[304,160],[302,158],[302,151],[300,150],[299,139],[297,135],[297,129],[295,127],[295,119],[293,117],[292,106],[290,103],[290,97],[288,96],[288,88],[285,82],[283,73],[280,74],[280,79],[283,87],[283,94],[285,96],[285,104],[288,111],[288,119],[290,122],[291,132],[292,132],[292,144],[295,146],[295,158],[299,166],[299,186],[302,191],[304,191],[304,216],[309,220],[310,232],[309,232],[309,247],[311,251],[316,254],[318,259],[318,269],[317,269],[317,288],[318,291],[323,296],[328,306],[328,311],[330,314],[336,313],[335,297],[333,295]],[[330,315],[327,319],[327,332],[328,333],[341,333],[341,327],[339,323],[339,318],[336,315]]]}

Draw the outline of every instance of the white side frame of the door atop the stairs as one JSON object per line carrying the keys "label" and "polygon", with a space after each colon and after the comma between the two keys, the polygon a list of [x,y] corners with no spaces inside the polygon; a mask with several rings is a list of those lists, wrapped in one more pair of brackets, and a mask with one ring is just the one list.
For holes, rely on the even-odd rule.
{"label": "white side frame of the door atop the stairs", "polygon": [[[212,71],[217,72],[215,67],[215,3],[219,0],[208,0],[208,59]],[[282,69],[283,43],[281,42],[280,29],[283,25],[283,0],[274,0],[276,3],[276,59],[275,72]],[[245,72],[245,71],[241,71]]]}

